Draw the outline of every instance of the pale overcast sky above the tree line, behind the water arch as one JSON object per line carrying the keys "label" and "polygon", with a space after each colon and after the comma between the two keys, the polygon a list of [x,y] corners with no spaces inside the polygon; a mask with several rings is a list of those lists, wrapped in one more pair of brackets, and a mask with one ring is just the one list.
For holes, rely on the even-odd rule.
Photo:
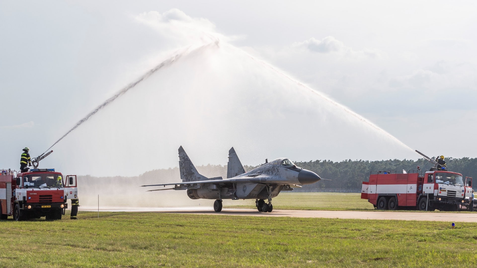
{"label": "pale overcast sky above the tree line, behind the water arch", "polygon": [[0,0],[0,168],[182,52],[42,167],[137,175],[177,166],[180,145],[196,165],[231,146],[247,165],[419,157],[329,100],[430,156],[476,157],[476,5]]}

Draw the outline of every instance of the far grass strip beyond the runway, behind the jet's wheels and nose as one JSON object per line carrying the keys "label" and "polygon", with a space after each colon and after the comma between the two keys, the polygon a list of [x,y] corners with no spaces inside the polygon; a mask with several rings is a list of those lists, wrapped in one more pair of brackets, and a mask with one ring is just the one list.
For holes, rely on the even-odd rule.
{"label": "far grass strip beyond the runway, behind the jet's wheels and nose", "polygon": [[[212,206],[213,200],[209,201]],[[359,193],[280,193],[273,198],[274,209],[300,210],[374,210],[366,199],[361,199]],[[223,200],[223,206],[228,208],[255,208],[255,199]]]}

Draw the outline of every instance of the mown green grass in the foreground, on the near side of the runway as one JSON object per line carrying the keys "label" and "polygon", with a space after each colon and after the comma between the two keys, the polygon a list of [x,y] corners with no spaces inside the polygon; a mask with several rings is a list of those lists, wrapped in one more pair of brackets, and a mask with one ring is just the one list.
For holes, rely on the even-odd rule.
{"label": "mown green grass in the foreground, on the near side of the runway", "polygon": [[80,212],[0,221],[0,267],[475,267],[477,225]]}

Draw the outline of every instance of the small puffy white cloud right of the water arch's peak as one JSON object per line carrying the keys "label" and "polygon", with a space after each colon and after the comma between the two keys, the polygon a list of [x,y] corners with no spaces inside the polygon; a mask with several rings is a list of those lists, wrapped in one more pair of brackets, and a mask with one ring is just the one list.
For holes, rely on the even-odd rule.
{"label": "small puffy white cloud right of the water arch's peak", "polygon": [[306,48],[308,51],[317,52],[317,53],[341,53],[341,54],[348,54],[353,56],[365,56],[369,58],[376,58],[380,57],[378,52],[373,50],[363,50],[363,51],[355,51],[351,47],[344,45],[342,41],[337,40],[332,36],[327,36],[322,40],[317,40],[315,38],[310,38],[306,41],[302,42],[295,42],[291,45],[295,48]]}

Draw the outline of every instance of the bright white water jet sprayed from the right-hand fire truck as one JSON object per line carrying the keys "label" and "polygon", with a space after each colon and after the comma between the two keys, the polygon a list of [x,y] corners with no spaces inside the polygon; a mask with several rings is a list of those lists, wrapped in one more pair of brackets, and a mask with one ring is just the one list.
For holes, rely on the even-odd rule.
{"label": "bright white water jet sprayed from the right-hand fire truck", "polygon": [[370,122],[368,119],[364,118],[363,116],[359,115],[358,113],[355,113],[353,112],[350,108],[342,105],[341,103],[337,103],[335,101],[333,101],[332,99],[330,99],[329,97],[325,96],[323,93],[321,92],[318,92],[316,90],[313,90],[312,88],[310,88],[309,86],[303,84],[302,82],[294,79],[294,78],[291,78],[289,75],[285,74],[285,72],[282,72],[280,70],[278,70],[276,67],[272,66],[270,63],[268,62],[264,62],[262,60],[259,60],[259,59],[256,59],[255,57],[253,57],[252,55],[250,55],[249,53],[233,46],[233,45],[230,45],[232,48],[244,53],[245,55],[247,55],[248,57],[250,57],[253,61],[255,62],[258,62],[260,63],[261,65],[271,69],[272,71],[274,72],[277,72],[279,75],[289,79],[291,82],[294,82],[296,84],[298,84],[299,86],[311,91],[312,93],[315,93],[317,94],[318,96],[320,96],[321,98],[323,98],[324,100],[328,101],[329,103],[331,103],[332,105],[342,109],[343,111],[345,111],[346,113],[349,113],[350,115],[352,115],[353,117],[355,117],[356,119],[358,119],[359,121],[363,122],[364,124],[367,124],[368,126],[370,126],[371,128],[383,133],[385,136],[387,136],[388,138],[391,138],[391,140],[393,140],[394,142],[404,146],[405,148],[415,152],[413,149],[411,149],[409,146],[407,146],[406,144],[404,144],[403,142],[401,142],[400,140],[398,140],[396,137],[394,137],[393,135],[389,134],[387,131],[385,131],[384,129],[380,128],[379,126],[373,124],[372,122]]}

